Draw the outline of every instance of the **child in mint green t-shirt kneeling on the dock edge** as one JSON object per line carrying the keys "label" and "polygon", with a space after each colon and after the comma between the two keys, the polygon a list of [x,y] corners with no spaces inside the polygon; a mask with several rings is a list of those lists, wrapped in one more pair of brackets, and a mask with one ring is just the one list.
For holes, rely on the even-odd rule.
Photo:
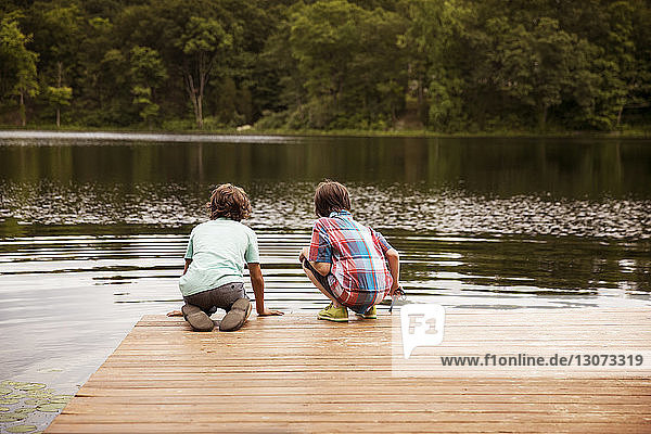
{"label": "child in mint green t-shirt kneeling on the dock edge", "polygon": [[230,183],[217,187],[207,204],[210,220],[190,234],[186,268],[179,289],[186,305],[183,318],[195,331],[213,330],[210,315],[225,309],[221,331],[240,329],[251,314],[244,290],[244,266],[248,267],[258,316],[282,315],[265,308],[265,281],[255,232],[240,221],[251,214],[248,196]]}

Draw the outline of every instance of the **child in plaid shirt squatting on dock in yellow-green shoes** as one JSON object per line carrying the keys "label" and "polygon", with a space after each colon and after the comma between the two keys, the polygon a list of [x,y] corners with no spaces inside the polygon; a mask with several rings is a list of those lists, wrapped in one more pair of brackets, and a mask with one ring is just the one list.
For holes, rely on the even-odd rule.
{"label": "child in plaid shirt squatting on dock in yellow-green shoes", "polygon": [[348,190],[339,182],[317,187],[315,210],[319,219],[299,260],[332,302],[317,318],[348,321],[347,308],[362,318],[378,318],[375,305],[399,286],[398,252],[380,232],[353,219]]}

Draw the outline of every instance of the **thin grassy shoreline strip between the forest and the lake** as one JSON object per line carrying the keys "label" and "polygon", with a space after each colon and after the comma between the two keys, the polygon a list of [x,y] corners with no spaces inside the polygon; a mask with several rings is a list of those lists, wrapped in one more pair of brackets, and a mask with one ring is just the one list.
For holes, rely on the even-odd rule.
{"label": "thin grassy shoreline strip between the forest and the lake", "polygon": [[217,129],[164,129],[164,128],[138,128],[138,127],[80,127],[54,125],[28,125],[16,127],[0,125],[0,131],[51,131],[51,132],[130,132],[130,133],[164,133],[164,135],[225,135],[225,136],[288,136],[288,137],[359,137],[359,138],[516,138],[516,139],[563,139],[563,138],[598,138],[598,139],[651,139],[651,129],[624,129],[621,131],[524,131],[524,130],[498,130],[480,132],[437,132],[430,130],[318,130],[318,129],[246,129],[238,131],[237,128]]}

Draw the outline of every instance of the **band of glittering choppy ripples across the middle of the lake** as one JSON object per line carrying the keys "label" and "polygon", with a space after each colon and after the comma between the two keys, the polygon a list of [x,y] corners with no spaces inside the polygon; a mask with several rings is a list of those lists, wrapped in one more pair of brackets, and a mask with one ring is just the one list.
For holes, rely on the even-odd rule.
{"label": "band of glittering choppy ripples across the middle of the lake", "polygon": [[[651,238],[651,200],[488,196],[424,184],[349,182],[354,214],[385,230],[443,233]],[[205,220],[210,184],[0,183],[0,218],[30,225],[156,225]],[[305,230],[314,219],[314,182],[256,182],[255,229]],[[5,222],[5,228],[10,226]],[[0,229],[1,230],[1,229]]]}

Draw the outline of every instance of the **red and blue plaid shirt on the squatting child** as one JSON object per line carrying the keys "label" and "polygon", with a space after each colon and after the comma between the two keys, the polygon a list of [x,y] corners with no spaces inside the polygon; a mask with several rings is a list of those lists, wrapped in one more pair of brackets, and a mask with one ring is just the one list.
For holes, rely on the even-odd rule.
{"label": "red and blue plaid shirt on the squatting child", "polygon": [[342,209],[315,222],[308,259],[330,263],[328,282],[333,295],[363,314],[380,303],[393,284],[385,259],[390,248],[380,232],[358,224]]}

